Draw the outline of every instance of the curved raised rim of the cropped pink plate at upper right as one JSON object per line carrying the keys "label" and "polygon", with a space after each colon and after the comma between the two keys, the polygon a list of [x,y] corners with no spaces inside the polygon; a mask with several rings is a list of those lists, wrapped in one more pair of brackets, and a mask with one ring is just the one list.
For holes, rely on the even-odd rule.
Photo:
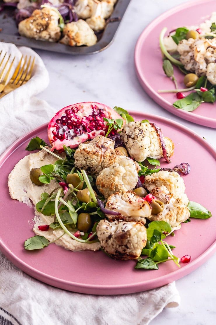
{"label": "curved raised rim of the cropped pink plate at upper right", "polygon": [[174,109],[174,107],[172,106],[172,104],[170,102],[168,102],[167,100],[165,100],[164,98],[162,98],[156,91],[153,90],[153,88],[148,84],[148,81],[146,80],[146,78],[143,76],[142,71],[140,69],[140,63],[139,63],[139,53],[140,53],[140,47],[142,45],[142,40],[143,38],[146,37],[146,34],[148,34],[151,29],[154,27],[155,24],[161,22],[162,20],[164,20],[165,18],[167,18],[168,16],[172,15],[173,13],[175,13],[177,10],[179,9],[184,9],[184,8],[188,8],[188,6],[193,6],[193,5],[199,5],[202,3],[205,3],[205,0],[199,0],[199,1],[189,1],[186,2],[184,4],[181,4],[177,7],[174,7],[170,10],[167,10],[166,12],[164,12],[162,15],[158,16],[157,18],[155,18],[140,34],[135,49],[134,49],[134,62],[135,62],[135,70],[136,70],[136,74],[138,77],[138,80],[140,82],[140,84],[142,85],[143,89],[145,90],[145,92],[161,107],[163,107],[165,110],[168,110],[170,113],[179,116],[187,121],[199,124],[199,125],[203,125],[203,126],[207,126],[207,127],[211,127],[211,128],[216,128],[216,119],[212,119],[212,118],[206,118],[204,116],[200,116],[197,115],[196,113],[191,114],[190,112],[187,112],[185,110],[181,110],[181,109]]}

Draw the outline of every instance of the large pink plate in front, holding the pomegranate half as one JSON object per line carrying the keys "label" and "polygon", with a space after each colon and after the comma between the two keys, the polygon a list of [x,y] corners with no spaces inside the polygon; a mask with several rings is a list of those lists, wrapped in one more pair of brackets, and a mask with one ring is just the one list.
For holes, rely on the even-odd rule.
{"label": "large pink plate in front, holding the pomegranate half", "polygon": [[[175,143],[170,167],[181,162],[191,165],[184,176],[186,193],[215,214],[214,149],[200,136],[181,124],[149,114],[131,113],[136,120],[148,119],[161,127]],[[191,262],[178,268],[173,262],[160,264],[158,270],[135,270],[134,261],[115,261],[103,252],[71,252],[55,244],[38,251],[26,251],[24,241],[34,235],[33,209],[9,196],[7,178],[14,165],[25,155],[25,147],[34,136],[47,139],[47,124],[18,139],[0,158],[0,249],[18,268],[52,286],[90,294],[122,294],[163,286],[184,277],[204,263],[216,250],[215,215],[207,220],[192,219],[182,224],[175,237],[167,241],[175,245],[175,255],[191,255]],[[163,159],[161,159],[163,161]],[[166,162],[161,162],[167,167]],[[22,177],[22,175],[19,175]],[[211,195],[210,195],[211,193]],[[8,275],[9,276],[9,275]]]}

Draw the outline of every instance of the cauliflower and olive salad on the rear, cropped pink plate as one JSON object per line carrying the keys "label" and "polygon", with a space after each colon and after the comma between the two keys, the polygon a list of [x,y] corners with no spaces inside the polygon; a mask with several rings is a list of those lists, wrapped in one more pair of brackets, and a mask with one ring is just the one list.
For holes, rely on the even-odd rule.
{"label": "cauliflower and olive salad on the rear, cropped pink plate", "polygon": [[[214,103],[216,86],[216,12],[199,26],[180,26],[165,36],[160,34],[163,70],[175,89],[159,89],[159,93],[176,93],[173,106],[193,111],[203,102]],[[176,80],[173,65],[182,72]],[[181,83],[181,85],[180,85]],[[185,93],[190,92],[186,96]]]}

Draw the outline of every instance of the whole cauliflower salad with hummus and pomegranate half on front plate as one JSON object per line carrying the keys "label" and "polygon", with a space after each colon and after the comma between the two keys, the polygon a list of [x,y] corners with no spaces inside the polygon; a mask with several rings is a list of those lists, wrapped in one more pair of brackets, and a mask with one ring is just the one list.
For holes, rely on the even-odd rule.
{"label": "whole cauliflower salad with hummus and pomegranate half on front plate", "polygon": [[[211,213],[189,201],[182,176],[190,165],[172,166],[174,143],[159,126],[134,121],[119,107],[84,102],[58,111],[48,138],[49,144],[31,139],[26,150],[38,151],[8,177],[11,198],[35,209],[35,236],[25,241],[26,250],[53,242],[74,252],[101,249],[135,260],[137,269],[190,261],[188,254],[175,256],[165,238],[182,222]],[[171,167],[160,168],[160,159]]]}

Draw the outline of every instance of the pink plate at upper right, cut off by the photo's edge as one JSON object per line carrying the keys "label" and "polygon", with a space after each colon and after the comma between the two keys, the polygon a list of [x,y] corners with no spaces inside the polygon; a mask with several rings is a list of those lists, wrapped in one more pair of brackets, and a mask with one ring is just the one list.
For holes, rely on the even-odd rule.
{"label": "pink plate at upper right, cut off by the photo's edge", "polygon": [[[183,118],[184,120],[216,128],[216,104],[202,103],[193,112],[176,109],[173,103],[177,100],[176,94],[158,93],[158,89],[174,89],[170,78],[165,76],[162,69],[162,56],[159,47],[159,35],[163,27],[167,32],[188,25],[199,25],[209,18],[214,11],[215,0],[198,0],[186,2],[175,7],[155,20],[145,28],[135,47],[135,66],[138,79],[153,100],[165,110]],[[184,74],[174,67],[174,74],[179,88],[185,88]],[[187,93],[185,93],[187,95]]]}

